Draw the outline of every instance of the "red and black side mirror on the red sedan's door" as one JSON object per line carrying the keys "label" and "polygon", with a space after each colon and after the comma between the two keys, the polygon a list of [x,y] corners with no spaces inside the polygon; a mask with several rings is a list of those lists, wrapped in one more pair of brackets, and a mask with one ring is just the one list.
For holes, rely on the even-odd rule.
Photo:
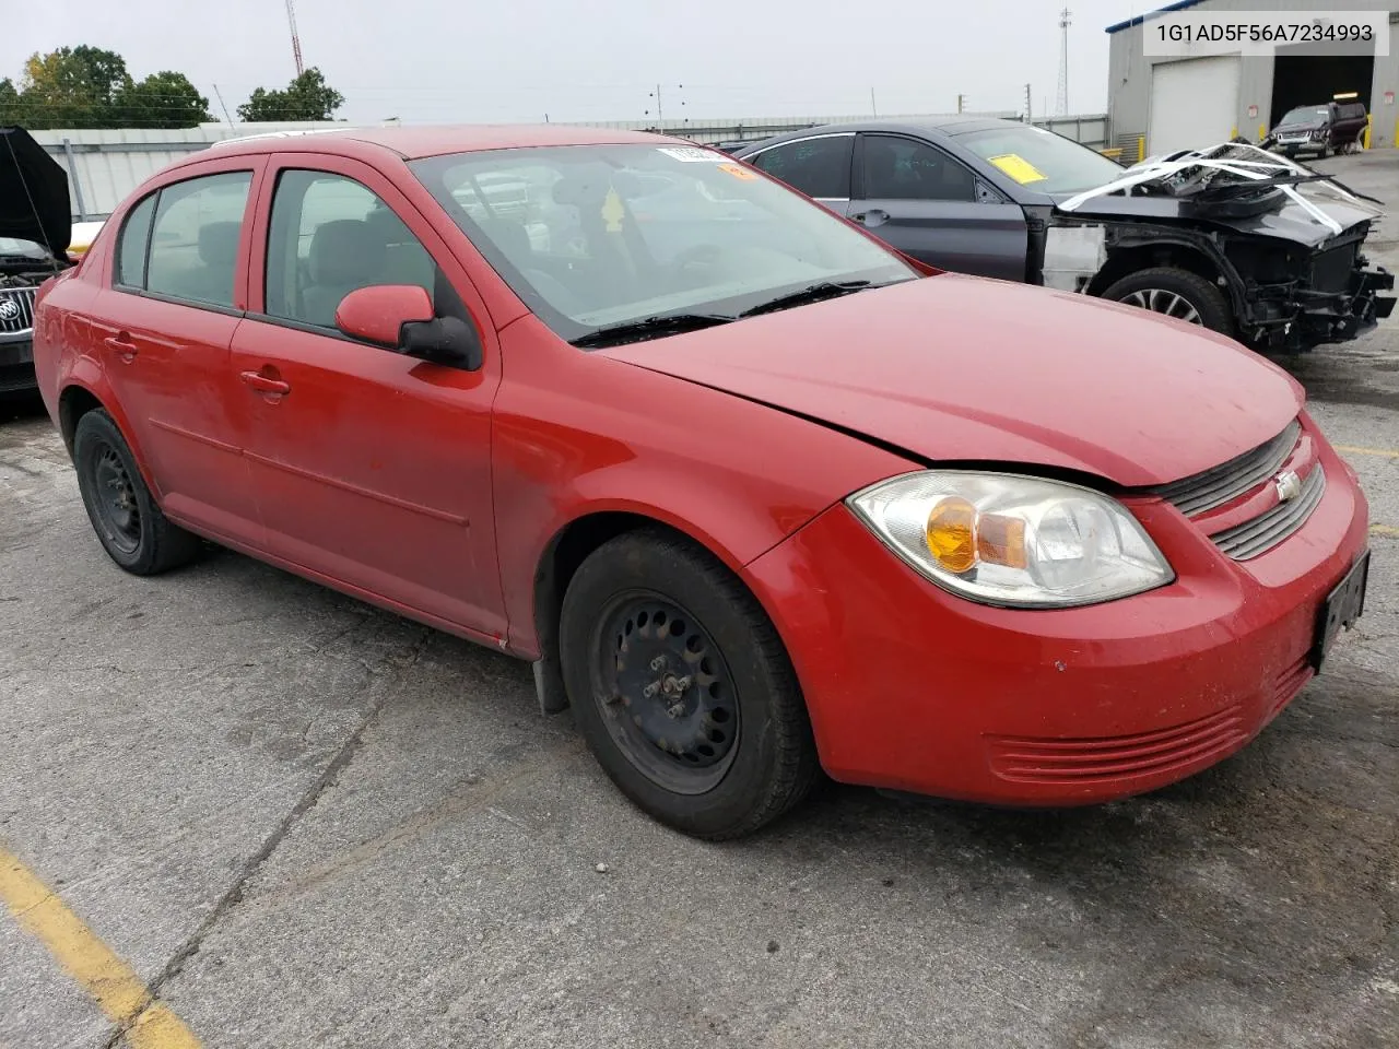
{"label": "red and black side mirror on the red sedan's door", "polygon": [[347,336],[434,364],[477,371],[481,338],[459,317],[434,316],[432,298],[417,284],[357,288],[336,308],[336,327]]}

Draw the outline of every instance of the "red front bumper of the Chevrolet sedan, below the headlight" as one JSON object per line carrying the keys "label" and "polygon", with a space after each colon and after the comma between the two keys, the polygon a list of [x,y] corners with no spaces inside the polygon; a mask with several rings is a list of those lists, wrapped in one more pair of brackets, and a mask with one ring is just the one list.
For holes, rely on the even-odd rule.
{"label": "red front bumper of the Chevrolet sedan, below the headlight", "polygon": [[990,608],[928,583],[837,505],[747,566],[838,780],[1011,806],[1154,790],[1238,751],[1312,677],[1321,603],[1365,548],[1368,506],[1333,481],[1247,562],[1174,508],[1139,516],[1178,580],[1088,608]]}

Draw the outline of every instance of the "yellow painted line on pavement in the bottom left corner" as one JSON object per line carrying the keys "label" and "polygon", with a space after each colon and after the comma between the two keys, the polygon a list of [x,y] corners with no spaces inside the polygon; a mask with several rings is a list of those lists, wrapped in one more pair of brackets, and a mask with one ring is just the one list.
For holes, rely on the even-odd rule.
{"label": "yellow painted line on pavement in the bottom left corner", "polygon": [[127,1027],[132,1049],[200,1049],[200,1042],[17,856],[0,849],[0,899],[92,996],[108,1020]]}

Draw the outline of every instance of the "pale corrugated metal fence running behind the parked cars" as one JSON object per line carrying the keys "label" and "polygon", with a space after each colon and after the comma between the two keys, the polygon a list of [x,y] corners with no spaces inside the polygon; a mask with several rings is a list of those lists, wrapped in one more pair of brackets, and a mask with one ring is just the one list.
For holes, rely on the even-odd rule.
{"label": "pale corrugated metal fence running behind the parked cars", "polygon": [[[939,113],[888,115],[883,120],[916,120]],[[1018,119],[1016,113],[995,112],[981,116]],[[722,120],[687,120],[665,129],[667,134],[683,136],[698,143],[751,141],[772,134],[816,124],[866,120],[867,116],[799,116],[799,117],[737,117]],[[1108,141],[1107,117],[1102,113],[1084,116],[1056,116],[1037,119],[1039,127],[1076,138],[1093,148]],[[256,123],[201,124],[186,130],[55,130],[35,131],[34,137],[69,171],[69,197],[74,218],[105,218],[141,182],[180,157],[207,150],[213,143],[266,131],[305,130],[316,127],[350,127],[325,123]],[[586,127],[617,130],[652,130],[635,120],[583,122]]]}

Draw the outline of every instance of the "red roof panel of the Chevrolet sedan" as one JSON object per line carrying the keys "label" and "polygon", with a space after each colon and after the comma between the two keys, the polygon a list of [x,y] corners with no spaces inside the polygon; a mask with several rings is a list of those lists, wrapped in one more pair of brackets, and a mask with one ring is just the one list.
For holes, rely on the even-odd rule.
{"label": "red roof panel of the Chevrolet sedan", "polygon": [[367,150],[388,150],[403,159],[439,157],[449,152],[478,150],[519,150],[540,145],[617,145],[663,144],[695,145],[651,131],[569,124],[448,124],[411,127],[336,127],[299,131],[269,131],[214,143],[192,154],[196,161],[210,155],[248,155],[263,152],[316,152],[339,157],[362,157]]}

